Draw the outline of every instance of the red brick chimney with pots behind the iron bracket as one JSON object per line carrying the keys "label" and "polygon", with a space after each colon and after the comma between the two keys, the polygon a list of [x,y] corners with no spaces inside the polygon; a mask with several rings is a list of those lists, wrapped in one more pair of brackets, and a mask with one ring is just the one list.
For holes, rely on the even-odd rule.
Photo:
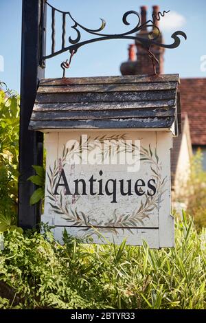
{"label": "red brick chimney with pots behind the iron bracket", "polygon": [[[159,26],[159,21],[157,19],[154,19],[155,16],[158,16],[159,12],[159,6],[154,5],[152,7],[153,12],[152,12],[152,20],[155,20],[155,25],[158,27]],[[142,6],[141,7],[141,25],[144,25],[147,21],[147,7]],[[155,28],[154,28],[155,29]],[[148,30],[146,25],[142,30],[137,34],[137,36],[141,36],[142,38],[147,38],[150,34],[151,30]],[[158,43],[163,43],[163,36],[162,34],[159,35],[159,38],[157,39]],[[153,74],[153,67],[152,67],[152,62],[148,56],[148,51],[146,48],[144,48],[141,43],[138,41],[135,42],[135,45],[137,47],[137,60],[132,60],[131,62],[131,57],[134,58],[134,55],[129,52],[129,58],[128,62],[122,63],[120,70],[122,75],[138,75],[138,74]],[[133,48],[133,47],[129,47]],[[132,49],[133,52],[135,52],[134,49]],[[159,65],[157,64],[157,74],[163,74],[163,54],[165,52],[164,48],[158,47],[156,45],[152,45],[150,47],[150,51],[155,54],[157,59],[159,60]],[[132,55],[132,56],[131,56]],[[133,63],[133,64],[131,64]]]}

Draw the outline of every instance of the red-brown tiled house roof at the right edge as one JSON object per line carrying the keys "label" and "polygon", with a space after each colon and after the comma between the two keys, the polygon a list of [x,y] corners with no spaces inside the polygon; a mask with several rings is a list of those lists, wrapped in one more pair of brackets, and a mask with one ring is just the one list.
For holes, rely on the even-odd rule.
{"label": "red-brown tiled house roof at the right edge", "polygon": [[206,145],[206,78],[181,78],[181,110],[190,122],[192,145]]}

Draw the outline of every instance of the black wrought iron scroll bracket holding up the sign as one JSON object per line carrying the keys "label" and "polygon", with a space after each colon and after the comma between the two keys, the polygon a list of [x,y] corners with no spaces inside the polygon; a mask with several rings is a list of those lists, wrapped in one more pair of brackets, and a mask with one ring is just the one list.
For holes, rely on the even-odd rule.
{"label": "black wrought iron scroll bracket holding up the sign", "polygon": [[[130,23],[128,22],[128,16],[130,16],[131,14],[135,15],[137,17],[137,23],[135,25],[135,27],[133,27],[131,30],[129,30],[128,32],[124,32],[122,34],[104,34],[102,33],[102,30],[104,30],[104,28],[106,27],[106,21],[104,21],[104,19],[100,19],[100,21],[102,22],[100,27],[98,29],[92,30],[89,29],[87,27],[84,27],[82,24],[78,23],[78,21],[76,21],[73,16],[71,15],[70,12],[65,12],[62,10],[59,10],[57,8],[54,8],[53,5],[49,4],[47,1],[45,1],[45,6],[44,6],[44,10],[43,10],[43,17],[42,17],[42,23],[41,23],[41,48],[45,47],[45,41],[46,41],[46,33],[47,33],[47,29],[46,29],[46,19],[44,17],[44,12],[46,12],[45,7],[49,7],[52,11],[52,48],[51,48],[51,52],[49,54],[41,55],[41,67],[45,67],[45,60],[52,58],[54,56],[57,56],[59,54],[62,54],[64,52],[69,51],[70,54],[75,54],[78,49],[84,45],[88,45],[90,43],[95,43],[95,42],[99,42],[99,41],[108,41],[111,39],[129,39],[129,40],[134,40],[134,41],[138,41],[139,43],[141,43],[141,45],[143,45],[148,51],[150,51],[150,47],[152,45],[157,45],[158,47],[163,47],[163,48],[168,48],[168,49],[172,49],[172,48],[176,48],[180,45],[181,43],[181,38],[179,36],[183,36],[183,38],[185,38],[185,40],[187,39],[187,36],[184,32],[181,31],[177,31],[174,32],[171,36],[171,38],[173,39],[173,43],[171,44],[163,44],[163,43],[159,43],[158,42],[158,38],[161,34],[159,27],[157,27],[157,24],[155,23],[156,21],[159,21],[161,19],[162,16],[165,16],[165,14],[167,14],[169,11],[163,11],[163,12],[158,12],[157,15],[152,14],[152,19],[146,21],[146,23],[141,24],[141,18],[139,16],[139,13],[136,11],[128,11],[124,14],[124,16],[122,17],[122,21],[124,23],[124,25],[130,25]],[[62,31],[61,31],[61,48],[56,50],[56,26],[55,26],[55,18],[56,18],[56,13],[58,12],[58,14],[60,14],[62,17]],[[68,40],[66,41],[66,27],[67,27],[67,21],[68,18],[70,19],[71,23],[73,25],[71,25],[70,27],[76,31],[76,38],[71,38],[71,36],[69,36]],[[141,30],[145,30],[146,27],[150,27],[151,28],[151,32],[148,33],[148,38],[145,38],[143,36],[141,36]],[[91,39],[88,39],[86,41],[81,41],[82,35],[81,32],[87,32],[87,34],[89,35],[93,35],[94,37]],[[138,34],[137,34],[138,33]],[[151,58],[153,59],[153,58]],[[62,67],[63,68],[63,67]],[[65,66],[65,68],[67,68]]]}

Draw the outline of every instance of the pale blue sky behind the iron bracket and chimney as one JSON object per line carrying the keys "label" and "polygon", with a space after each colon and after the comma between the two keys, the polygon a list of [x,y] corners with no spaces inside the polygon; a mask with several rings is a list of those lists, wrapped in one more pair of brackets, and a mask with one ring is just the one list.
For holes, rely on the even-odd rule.
{"label": "pale blue sky behind the iron bracket and chimney", "polygon": [[[176,30],[183,30],[187,34],[187,41],[183,40],[178,49],[168,49],[165,52],[165,73],[179,73],[181,77],[206,77],[206,71],[201,71],[200,68],[201,56],[206,55],[205,0],[48,0],[48,2],[56,5],[56,8],[70,11],[76,21],[91,29],[98,28],[100,25],[98,19],[104,18],[107,23],[105,32],[113,34],[127,31],[130,26],[135,25],[135,17],[130,18],[130,26],[122,23],[122,16],[128,10],[139,11],[141,5],[147,5],[148,19],[152,5],[160,5],[161,11],[171,10],[168,23],[165,20],[163,26],[165,43],[172,43],[170,36]],[[1,0],[0,39],[0,58],[4,59],[4,71],[0,71],[0,80],[6,82],[10,89],[19,91],[21,0]],[[80,48],[73,58],[67,76],[119,75],[119,65],[127,60],[128,43],[130,41],[105,41]],[[46,77],[61,77],[60,63],[67,58],[68,54],[64,53],[47,60]]]}

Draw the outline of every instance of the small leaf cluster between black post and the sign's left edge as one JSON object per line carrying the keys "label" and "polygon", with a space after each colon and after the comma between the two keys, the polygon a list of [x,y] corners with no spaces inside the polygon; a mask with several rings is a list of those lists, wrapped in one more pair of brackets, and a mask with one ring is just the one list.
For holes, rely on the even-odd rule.
{"label": "small leaf cluster between black post and the sign's left edge", "polygon": [[36,165],[33,165],[32,167],[36,171],[36,175],[29,177],[28,181],[32,181],[32,183],[40,187],[37,188],[30,197],[31,205],[38,203],[45,197],[45,168]]}

